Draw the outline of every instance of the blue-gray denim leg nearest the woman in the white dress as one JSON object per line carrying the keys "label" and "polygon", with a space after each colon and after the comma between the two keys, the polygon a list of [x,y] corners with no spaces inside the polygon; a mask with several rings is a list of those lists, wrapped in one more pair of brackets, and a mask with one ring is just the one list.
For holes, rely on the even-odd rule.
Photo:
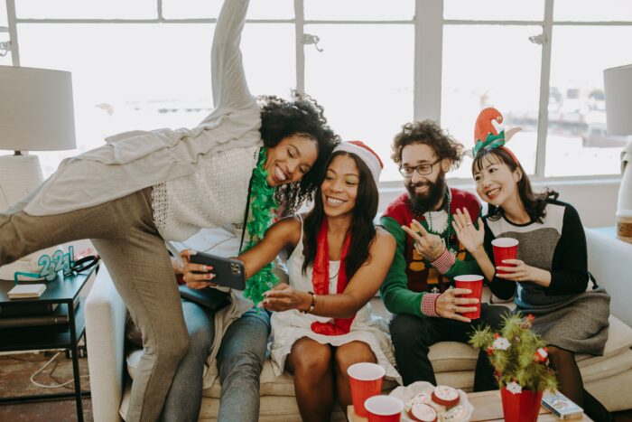
{"label": "blue-gray denim leg nearest the woman in the white dress", "polygon": [[230,324],[218,352],[221,422],[259,419],[259,377],[264,367],[270,315],[251,308]]}

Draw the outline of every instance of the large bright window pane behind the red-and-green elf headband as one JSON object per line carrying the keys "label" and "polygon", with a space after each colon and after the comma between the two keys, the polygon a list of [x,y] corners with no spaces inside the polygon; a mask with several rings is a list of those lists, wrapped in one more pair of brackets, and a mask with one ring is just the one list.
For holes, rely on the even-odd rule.
{"label": "large bright window pane behind the red-and-green elf headband", "polygon": [[[523,128],[509,147],[527,173],[535,169],[542,53],[528,37],[540,31],[496,25],[446,25],[443,31],[441,126],[469,149],[480,110],[497,108],[505,128]],[[451,176],[471,178],[470,164],[465,157]]]}

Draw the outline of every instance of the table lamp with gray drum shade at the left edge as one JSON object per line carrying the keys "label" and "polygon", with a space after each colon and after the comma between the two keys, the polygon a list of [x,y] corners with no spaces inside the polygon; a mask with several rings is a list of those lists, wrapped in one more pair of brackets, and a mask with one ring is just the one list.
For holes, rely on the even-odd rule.
{"label": "table lamp with gray drum shade at the left edge", "polygon": [[70,72],[0,66],[0,211],[43,181],[36,155],[73,149],[75,117]]}

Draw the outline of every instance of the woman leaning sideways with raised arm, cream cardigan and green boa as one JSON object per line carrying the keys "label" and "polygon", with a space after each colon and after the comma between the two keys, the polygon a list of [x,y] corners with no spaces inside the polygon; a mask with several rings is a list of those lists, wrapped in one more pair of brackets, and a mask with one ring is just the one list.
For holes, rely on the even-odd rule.
{"label": "woman leaning sideways with raised arm, cream cardigan and green boa", "polygon": [[[218,16],[211,52],[216,108],[200,126],[109,137],[107,145],[64,160],[30,197],[0,213],[0,266],[93,239],[143,333],[127,421],[160,416],[189,344],[164,241],[240,224],[250,211],[246,248],[253,246],[277,203],[291,213],[311,197],[339,142],[311,98],[257,102],[250,94],[239,51],[247,7],[247,0],[230,0]],[[246,296],[259,301],[272,276],[267,267],[248,280]]]}

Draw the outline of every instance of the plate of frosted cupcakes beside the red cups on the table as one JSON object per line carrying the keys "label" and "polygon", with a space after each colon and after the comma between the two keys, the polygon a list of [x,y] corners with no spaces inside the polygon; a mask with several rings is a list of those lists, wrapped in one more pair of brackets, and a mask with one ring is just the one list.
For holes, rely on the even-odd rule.
{"label": "plate of frosted cupcakes beside the red cups on the table", "polygon": [[404,421],[468,422],[474,410],[462,389],[435,387],[425,381],[397,387],[390,395],[404,402]]}

